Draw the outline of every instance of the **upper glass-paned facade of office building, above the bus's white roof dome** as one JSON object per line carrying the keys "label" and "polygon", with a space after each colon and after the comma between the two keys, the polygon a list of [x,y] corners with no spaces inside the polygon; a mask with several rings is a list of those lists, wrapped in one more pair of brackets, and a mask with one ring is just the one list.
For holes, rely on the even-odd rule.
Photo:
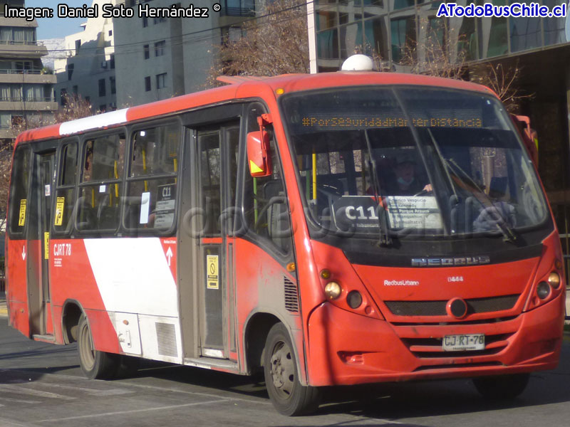
{"label": "upper glass-paned facade of office building, above the bus's white roof dome", "polygon": [[[504,5],[506,1],[492,3]],[[538,1],[549,7],[561,4],[561,0],[526,2]],[[461,6],[471,3],[453,2]],[[314,0],[318,70],[338,70],[355,50],[373,50],[388,66],[398,68],[407,48],[430,39],[455,46],[473,61],[567,42],[565,18],[437,18],[440,4],[442,1]]]}

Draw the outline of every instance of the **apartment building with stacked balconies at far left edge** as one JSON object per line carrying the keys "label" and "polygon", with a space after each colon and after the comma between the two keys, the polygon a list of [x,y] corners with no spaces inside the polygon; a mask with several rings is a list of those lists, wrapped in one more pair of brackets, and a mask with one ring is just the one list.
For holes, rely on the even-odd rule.
{"label": "apartment building with stacked balconies at far left edge", "polygon": [[4,4],[24,7],[24,0],[0,1],[0,139],[13,139],[12,124],[41,124],[57,110],[56,76],[43,69],[48,51],[36,39],[36,20],[6,18]]}

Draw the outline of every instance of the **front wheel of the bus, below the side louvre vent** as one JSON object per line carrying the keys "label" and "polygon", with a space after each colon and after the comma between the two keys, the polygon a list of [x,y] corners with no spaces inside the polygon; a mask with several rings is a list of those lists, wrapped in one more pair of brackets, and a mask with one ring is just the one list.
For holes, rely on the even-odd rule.
{"label": "front wheel of the bus, below the side louvre vent", "polygon": [[264,349],[265,386],[271,403],[287,416],[311,413],[318,408],[317,387],[302,386],[289,332],[282,323],[271,327]]}

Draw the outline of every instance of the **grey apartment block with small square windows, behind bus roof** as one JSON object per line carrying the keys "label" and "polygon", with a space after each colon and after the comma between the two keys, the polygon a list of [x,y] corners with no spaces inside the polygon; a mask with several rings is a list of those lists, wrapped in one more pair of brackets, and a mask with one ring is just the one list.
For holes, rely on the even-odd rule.
{"label": "grey apartment block with small square windows, behind bus roof", "polygon": [[[133,18],[114,19],[118,107],[202,90],[223,36],[239,36],[255,16],[255,0],[222,0],[219,12],[206,0],[123,0]],[[201,18],[148,18],[138,5],[208,8]]]}

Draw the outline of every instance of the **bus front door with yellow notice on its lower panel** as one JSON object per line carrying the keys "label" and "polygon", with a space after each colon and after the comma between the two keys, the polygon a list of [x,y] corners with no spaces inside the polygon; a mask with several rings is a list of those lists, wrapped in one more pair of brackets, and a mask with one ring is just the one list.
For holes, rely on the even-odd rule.
{"label": "bus front door with yellow notice on its lower panel", "polygon": [[200,128],[197,143],[193,239],[199,357],[237,361],[234,323],[234,238],[232,212],[237,183],[239,122]]}

